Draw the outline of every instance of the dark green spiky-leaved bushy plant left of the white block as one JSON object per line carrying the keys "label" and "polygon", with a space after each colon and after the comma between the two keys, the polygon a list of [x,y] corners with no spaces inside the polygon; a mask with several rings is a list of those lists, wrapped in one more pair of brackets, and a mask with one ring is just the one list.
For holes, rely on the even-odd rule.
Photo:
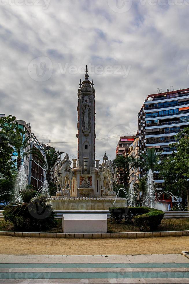
{"label": "dark green spiky-leaved bushy plant left of the white block", "polygon": [[19,230],[48,230],[56,226],[55,212],[47,203],[46,196],[33,198],[32,189],[20,190],[23,202],[14,202],[5,206],[5,221],[13,223]]}

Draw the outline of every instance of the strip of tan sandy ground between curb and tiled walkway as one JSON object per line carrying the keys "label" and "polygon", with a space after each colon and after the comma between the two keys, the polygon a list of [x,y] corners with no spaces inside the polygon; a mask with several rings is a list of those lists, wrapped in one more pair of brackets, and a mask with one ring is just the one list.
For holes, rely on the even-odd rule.
{"label": "strip of tan sandy ground between curb and tiled walkway", "polygon": [[56,239],[0,236],[0,254],[177,254],[189,236],[140,239]]}

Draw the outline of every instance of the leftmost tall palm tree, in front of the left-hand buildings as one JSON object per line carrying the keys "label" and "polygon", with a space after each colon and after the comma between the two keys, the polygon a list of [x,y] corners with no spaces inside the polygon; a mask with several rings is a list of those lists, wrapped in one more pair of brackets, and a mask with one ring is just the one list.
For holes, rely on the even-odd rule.
{"label": "leftmost tall palm tree, in front of the left-hand buildings", "polygon": [[28,148],[30,146],[31,136],[29,135],[26,139],[24,139],[24,135],[25,134],[20,135],[20,137],[18,138],[18,142],[14,146],[13,156],[16,160],[18,171],[21,168],[24,156],[28,156],[29,154],[35,154],[37,157],[41,156],[41,153],[38,149]]}

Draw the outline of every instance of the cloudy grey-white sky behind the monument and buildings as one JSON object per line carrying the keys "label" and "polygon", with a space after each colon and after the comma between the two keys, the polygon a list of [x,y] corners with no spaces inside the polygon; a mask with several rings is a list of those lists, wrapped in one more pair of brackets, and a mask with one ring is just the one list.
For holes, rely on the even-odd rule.
{"label": "cloudy grey-white sky behind the monument and buildings", "polygon": [[[96,155],[136,133],[148,94],[189,87],[188,0],[0,0],[0,113],[77,154],[77,90],[96,92]],[[172,90],[173,90],[172,88]]]}

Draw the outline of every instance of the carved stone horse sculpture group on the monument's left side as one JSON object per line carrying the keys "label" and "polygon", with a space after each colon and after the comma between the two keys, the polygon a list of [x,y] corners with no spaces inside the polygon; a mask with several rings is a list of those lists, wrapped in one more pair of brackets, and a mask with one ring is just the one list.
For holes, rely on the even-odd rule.
{"label": "carved stone horse sculpture group on the monument's left side", "polygon": [[[69,160],[68,154],[60,163],[58,164],[58,168],[56,170],[56,186],[57,186],[57,196],[70,196],[70,190],[72,186],[72,177],[73,172],[71,170],[71,161]],[[65,183],[66,181],[66,183]],[[67,188],[69,184],[69,189]]]}

